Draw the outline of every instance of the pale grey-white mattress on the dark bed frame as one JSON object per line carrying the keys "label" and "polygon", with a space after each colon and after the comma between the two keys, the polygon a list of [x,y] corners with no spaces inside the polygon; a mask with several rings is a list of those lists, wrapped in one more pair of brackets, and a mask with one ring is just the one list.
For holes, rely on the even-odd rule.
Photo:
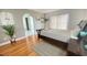
{"label": "pale grey-white mattress on the dark bed frame", "polygon": [[70,39],[70,31],[66,30],[44,30],[41,35],[67,43]]}

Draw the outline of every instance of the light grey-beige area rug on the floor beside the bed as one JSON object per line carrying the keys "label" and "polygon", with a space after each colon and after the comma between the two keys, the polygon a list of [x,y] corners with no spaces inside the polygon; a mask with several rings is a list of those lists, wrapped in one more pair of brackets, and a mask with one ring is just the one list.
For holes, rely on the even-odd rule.
{"label": "light grey-beige area rug on the floor beside the bed", "polygon": [[66,56],[66,52],[46,42],[40,42],[33,50],[41,56]]}

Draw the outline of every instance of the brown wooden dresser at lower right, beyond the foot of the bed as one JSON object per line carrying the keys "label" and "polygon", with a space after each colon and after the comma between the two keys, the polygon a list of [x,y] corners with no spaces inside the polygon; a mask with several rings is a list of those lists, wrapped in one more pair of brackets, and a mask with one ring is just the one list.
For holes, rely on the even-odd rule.
{"label": "brown wooden dresser at lower right, beyond the foot of the bed", "polygon": [[81,41],[70,39],[67,50],[76,55],[87,56],[87,50],[84,48],[84,42]]}

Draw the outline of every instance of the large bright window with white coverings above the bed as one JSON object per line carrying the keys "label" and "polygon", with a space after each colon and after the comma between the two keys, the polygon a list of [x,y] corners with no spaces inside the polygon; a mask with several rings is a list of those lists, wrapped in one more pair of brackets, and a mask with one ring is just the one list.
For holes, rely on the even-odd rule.
{"label": "large bright window with white coverings above the bed", "polygon": [[59,30],[67,30],[68,25],[68,14],[55,15],[51,17],[51,29],[59,29]]}

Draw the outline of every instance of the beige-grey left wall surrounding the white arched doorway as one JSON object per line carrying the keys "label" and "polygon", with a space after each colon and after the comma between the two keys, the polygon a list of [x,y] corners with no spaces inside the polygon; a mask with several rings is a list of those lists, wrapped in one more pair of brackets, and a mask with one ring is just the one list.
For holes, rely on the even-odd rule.
{"label": "beige-grey left wall surrounding the white arched doorway", "polygon": [[[23,15],[25,13],[31,14],[36,21],[36,18],[43,17],[42,13],[34,12],[32,10],[26,9],[0,9],[0,12],[10,12],[13,14],[14,22],[15,22],[15,36],[22,37],[25,35],[24,28],[23,28]],[[2,29],[0,28],[0,43],[8,41],[7,35],[3,34]]]}

